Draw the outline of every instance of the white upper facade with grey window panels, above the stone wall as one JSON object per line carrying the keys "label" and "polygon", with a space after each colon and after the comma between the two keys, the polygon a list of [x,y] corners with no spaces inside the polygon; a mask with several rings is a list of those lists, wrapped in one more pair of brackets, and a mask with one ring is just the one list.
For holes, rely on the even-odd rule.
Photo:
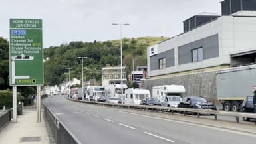
{"label": "white upper facade with grey window panels, above the stone wall", "polygon": [[256,11],[217,17],[148,48],[148,76],[207,72],[255,63]]}

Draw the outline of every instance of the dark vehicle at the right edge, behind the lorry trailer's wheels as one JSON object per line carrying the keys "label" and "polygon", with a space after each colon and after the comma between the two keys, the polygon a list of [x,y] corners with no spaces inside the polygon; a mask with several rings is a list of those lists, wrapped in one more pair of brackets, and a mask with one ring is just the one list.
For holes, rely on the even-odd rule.
{"label": "dark vehicle at the right edge, behind the lorry trailer's wheels", "polygon": [[[241,112],[254,113],[253,96],[246,96],[240,108]],[[250,121],[251,118],[243,117],[243,121]]]}

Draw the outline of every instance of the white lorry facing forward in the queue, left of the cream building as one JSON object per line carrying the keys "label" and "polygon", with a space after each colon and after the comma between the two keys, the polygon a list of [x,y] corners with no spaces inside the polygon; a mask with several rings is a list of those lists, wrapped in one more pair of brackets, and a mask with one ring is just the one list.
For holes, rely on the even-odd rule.
{"label": "white lorry facing forward in the queue, left of the cream building", "polygon": [[88,86],[86,91],[86,100],[97,101],[100,96],[106,96],[103,86]]}

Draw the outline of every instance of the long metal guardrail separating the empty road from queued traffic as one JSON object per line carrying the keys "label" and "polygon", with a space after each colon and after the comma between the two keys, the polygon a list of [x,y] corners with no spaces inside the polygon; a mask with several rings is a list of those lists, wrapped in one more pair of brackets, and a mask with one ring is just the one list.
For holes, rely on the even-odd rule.
{"label": "long metal guardrail separating the empty road from queued traffic", "polygon": [[211,110],[211,109],[171,108],[171,107],[164,107],[164,106],[146,106],[146,105],[135,105],[135,104],[111,104],[106,102],[82,101],[82,100],[76,100],[72,98],[67,98],[67,99],[76,101],[76,102],[88,103],[88,104],[111,106],[114,108],[140,109],[144,111],[150,111],[150,110],[161,111],[162,113],[164,111],[169,111],[172,114],[174,114],[175,111],[179,111],[184,116],[186,115],[187,112],[191,112],[191,113],[196,113],[198,118],[200,117],[200,114],[208,114],[208,115],[213,115],[215,117],[215,120],[217,120],[218,116],[229,116],[229,117],[235,117],[235,121],[237,123],[239,123],[239,117],[248,117],[251,119],[256,119],[255,113],[227,112],[227,111],[218,111],[218,110]]}

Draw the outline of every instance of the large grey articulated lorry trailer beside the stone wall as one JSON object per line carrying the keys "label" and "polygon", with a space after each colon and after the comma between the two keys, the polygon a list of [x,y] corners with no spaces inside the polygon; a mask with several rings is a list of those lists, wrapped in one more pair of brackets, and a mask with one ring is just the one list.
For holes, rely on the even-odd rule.
{"label": "large grey articulated lorry trailer beside the stone wall", "polygon": [[256,85],[256,65],[227,68],[216,72],[217,100],[225,111],[239,111]]}

